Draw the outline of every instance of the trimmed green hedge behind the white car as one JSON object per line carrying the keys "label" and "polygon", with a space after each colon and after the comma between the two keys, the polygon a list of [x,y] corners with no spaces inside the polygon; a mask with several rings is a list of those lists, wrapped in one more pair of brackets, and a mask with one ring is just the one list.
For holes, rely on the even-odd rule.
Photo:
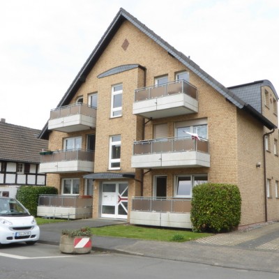
{"label": "trimmed green hedge behind the white car", "polygon": [[29,210],[30,214],[37,216],[39,195],[57,195],[58,190],[50,186],[21,186],[17,190],[16,198]]}

